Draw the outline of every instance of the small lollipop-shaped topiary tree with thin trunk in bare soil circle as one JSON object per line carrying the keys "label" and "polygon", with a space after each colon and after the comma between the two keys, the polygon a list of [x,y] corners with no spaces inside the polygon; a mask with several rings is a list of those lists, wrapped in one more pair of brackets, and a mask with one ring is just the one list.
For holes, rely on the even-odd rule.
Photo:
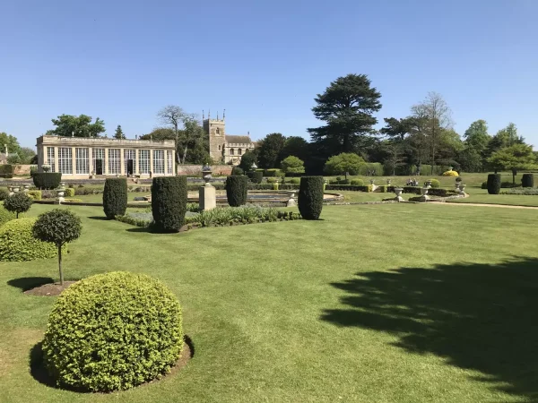
{"label": "small lollipop-shaped topiary tree with thin trunk in bare soil circle", "polygon": [[60,285],[64,285],[62,271],[62,246],[81,236],[81,219],[73,211],[64,209],[50,210],[39,215],[33,227],[33,236],[45,242],[52,242],[58,248],[58,270]]}

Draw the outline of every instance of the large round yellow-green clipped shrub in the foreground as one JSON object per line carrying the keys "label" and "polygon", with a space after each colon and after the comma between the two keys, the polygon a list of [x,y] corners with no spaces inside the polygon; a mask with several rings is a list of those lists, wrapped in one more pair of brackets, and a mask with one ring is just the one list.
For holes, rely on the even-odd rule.
{"label": "large round yellow-green clipped shrub in the foreground", "polygon": [[65,289],[42,346],[58,386],[90,391],[126,390],[159,378],[182,347],[178,298],[161,281],[125,271]]}

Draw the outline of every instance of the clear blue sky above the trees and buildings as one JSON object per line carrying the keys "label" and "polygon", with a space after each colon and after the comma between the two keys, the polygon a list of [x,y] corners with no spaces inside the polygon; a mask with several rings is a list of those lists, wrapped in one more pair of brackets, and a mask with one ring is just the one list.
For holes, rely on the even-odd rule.
{"label": "clear blue sky above the trees and buildings", "polygon": [[316,94],[366,73],[381,122],[437,91],[458,133],[514,122],[538,148],[537,17],[538,0],[0,0],[0,132],[33,146],[85,114],[134,138],[174,104],[308,138]]}

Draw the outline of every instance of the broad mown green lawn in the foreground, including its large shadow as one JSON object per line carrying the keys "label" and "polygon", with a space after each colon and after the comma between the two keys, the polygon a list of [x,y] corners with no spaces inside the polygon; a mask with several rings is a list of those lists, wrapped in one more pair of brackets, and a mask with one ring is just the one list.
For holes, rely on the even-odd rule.
{"label": "broad mown green lawn in the foreground, including its large shadow", "polygon": [[195,356],[126,392],[50,388],[29,357],[55,298],[21,288],[56,279],[56,260],[0,263],[2,402],[538,400],[534,210],[330,206],[320,221],[152,235],[72,209],[83,233],[66,278],[161,279]]}

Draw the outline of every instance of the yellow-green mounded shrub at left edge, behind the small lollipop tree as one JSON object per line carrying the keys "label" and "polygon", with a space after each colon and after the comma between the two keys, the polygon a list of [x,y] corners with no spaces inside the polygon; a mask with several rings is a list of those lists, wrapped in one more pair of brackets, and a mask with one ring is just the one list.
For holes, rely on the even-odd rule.
{"label": "yellow-green mounded shrub at left edge, behind the small lollipop tree", "polygon": [[57,254],[56,245],[34,238],[36,219],[13,219],[0,227],[0,261],[26,262],[48,259]]}

